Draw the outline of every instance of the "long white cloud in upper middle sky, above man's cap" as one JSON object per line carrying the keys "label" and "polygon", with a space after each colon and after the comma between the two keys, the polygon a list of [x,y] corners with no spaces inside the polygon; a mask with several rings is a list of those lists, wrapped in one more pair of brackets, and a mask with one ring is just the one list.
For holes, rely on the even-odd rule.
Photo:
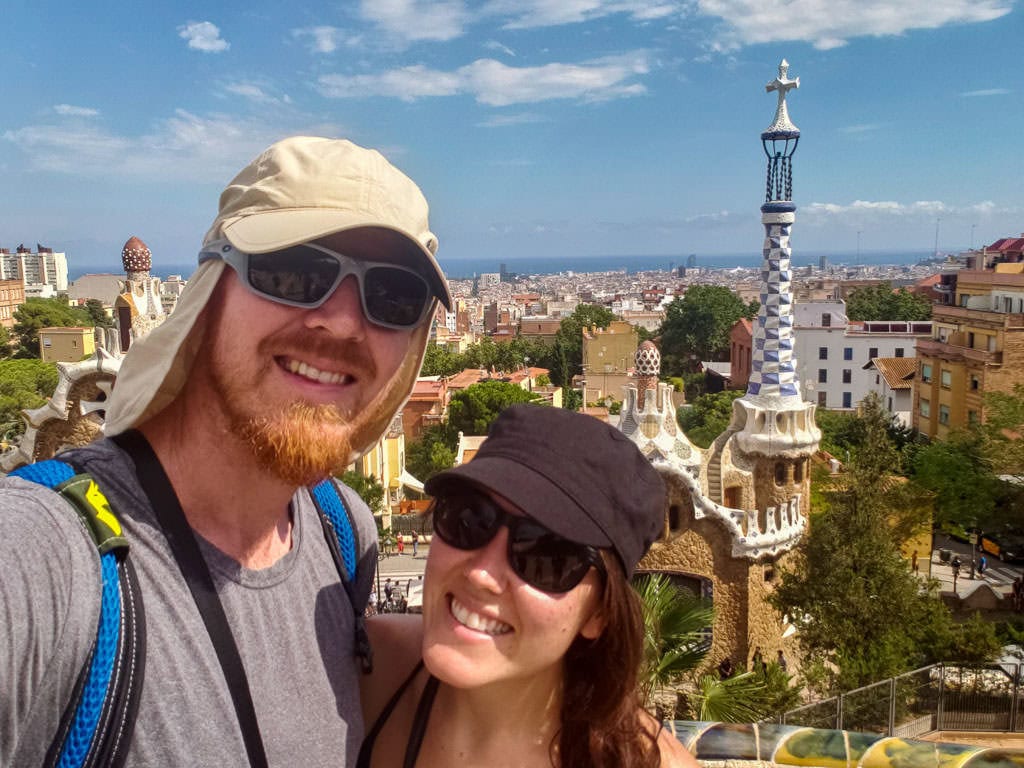
{"label": "long white cloud in upper middle sky, above man's cap", "polygon": [[603,101],[644,93],[632,82],[648,71],[646,54],[635,52],[580,65],[549,63],[514,68],[481,58],[454,72],[422,65],[376,75],[325,75],[321,92],[335,98],[391,96],[412,101],[426,96],[471,94],[492,106],[557,98]]}

